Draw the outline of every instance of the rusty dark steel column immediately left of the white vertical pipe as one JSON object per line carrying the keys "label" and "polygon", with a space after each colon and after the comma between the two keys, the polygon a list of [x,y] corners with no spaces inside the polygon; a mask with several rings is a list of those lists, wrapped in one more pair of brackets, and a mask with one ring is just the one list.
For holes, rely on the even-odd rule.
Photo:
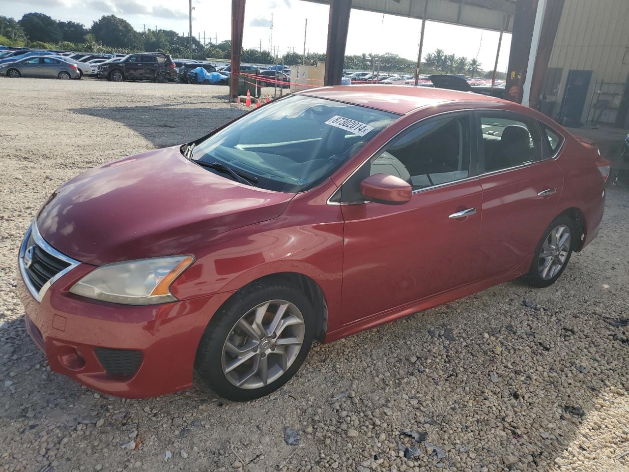
{"label": "rusty dark steel column immediately left of the white vertical pipe", "polygon": [[517,103],[522,102],[536,13],[537,0],[518,0],[516,3],[504,98]]}

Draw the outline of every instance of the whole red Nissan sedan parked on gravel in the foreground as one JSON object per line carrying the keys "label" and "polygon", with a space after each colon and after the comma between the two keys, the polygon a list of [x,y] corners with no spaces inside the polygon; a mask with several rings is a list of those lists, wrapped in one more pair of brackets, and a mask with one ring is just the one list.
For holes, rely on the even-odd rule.
{"label": "whole red Nissan sedan parked on gravel in the foreground", "polygon": [[266,395],[330,342],[523,276],[596,237],[609,163],[536,111],[324,87],[50,196],[19,252],[50,368],[126,397]]}

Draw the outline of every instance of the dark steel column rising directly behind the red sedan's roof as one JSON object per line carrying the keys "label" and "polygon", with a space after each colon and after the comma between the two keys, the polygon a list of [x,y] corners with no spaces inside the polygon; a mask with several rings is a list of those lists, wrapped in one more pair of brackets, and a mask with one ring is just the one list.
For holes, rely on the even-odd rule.
{"label": "dark steel column rising directly behind the red sedan's roof", "polygon": [[323,82],[326,86],[341,83],[351,10],[352,0],[330,0],[328,48],[325,54],[325,79]]}

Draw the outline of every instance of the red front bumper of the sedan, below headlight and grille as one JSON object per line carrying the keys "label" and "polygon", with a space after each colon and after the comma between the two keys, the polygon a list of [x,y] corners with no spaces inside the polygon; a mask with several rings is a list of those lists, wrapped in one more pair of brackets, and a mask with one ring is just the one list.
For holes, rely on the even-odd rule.
{"label": "red front bumper of the sedan, below headlight and grille", "polygon": [[[81,264],[62,276],[43,295],[33,298],[23,277],[18,294],[25,307],[26,330],[43,351],[50,369],[109,395],[145,398],[192,385],[194,357],[209,319],[229,293],[162,305],[101,303],[72,295],[67,289],[93,269]],[[120,374],[97,348],[133,351],[139,362]],[[124,359],[123,359],[124,361]],[[106,367],[107,369],[106,369]]]}

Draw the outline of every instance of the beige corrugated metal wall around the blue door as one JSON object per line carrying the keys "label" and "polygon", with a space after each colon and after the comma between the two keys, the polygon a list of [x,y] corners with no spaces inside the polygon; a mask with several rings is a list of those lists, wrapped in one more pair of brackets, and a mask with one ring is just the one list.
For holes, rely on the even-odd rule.
{"label": "beige corrugated metal wall around the blue door", "polygon": [[[549,113],[557,118],[570,70],[592,70],[582,123],[615,120],[629,74],[629,0],[565,0],[548,67],[560,68],[559,87]],[[606,82],[601,84],[601,82]],[[600,92],[600,93],[598,93]]]}

